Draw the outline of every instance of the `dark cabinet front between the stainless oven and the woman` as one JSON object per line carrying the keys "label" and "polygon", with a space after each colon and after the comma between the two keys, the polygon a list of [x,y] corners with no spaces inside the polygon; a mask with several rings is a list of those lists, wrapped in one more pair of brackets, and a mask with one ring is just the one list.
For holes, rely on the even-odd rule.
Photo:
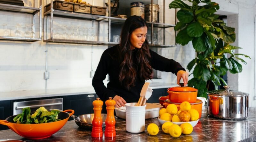
{"label": "dark cabinet front between the stainless oven and the woman", "polygon": [[[79,116],[83,114],[94,113],[92,102],[96,99],[96,94],[82,94],[65,96],[64,110],[73,109],[74,115]],[[69,118],[72,120],[73,118]]]}

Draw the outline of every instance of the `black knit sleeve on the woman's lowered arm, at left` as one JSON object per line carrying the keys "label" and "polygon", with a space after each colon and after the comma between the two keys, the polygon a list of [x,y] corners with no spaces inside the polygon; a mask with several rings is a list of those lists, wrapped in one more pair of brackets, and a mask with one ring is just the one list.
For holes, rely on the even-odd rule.
{"label": "black knit sleeve on the woman's lowered arm, at left", "polygon": [[114,97],[116,95],[114,91],[109,90],[103,83],[103,80],[108,74],[110,60],[111,57],[105,50],[101,55],[100,62],[92,78],[92,86],[94,87],[96,94],[104,101],[108,100],[108,97]]}

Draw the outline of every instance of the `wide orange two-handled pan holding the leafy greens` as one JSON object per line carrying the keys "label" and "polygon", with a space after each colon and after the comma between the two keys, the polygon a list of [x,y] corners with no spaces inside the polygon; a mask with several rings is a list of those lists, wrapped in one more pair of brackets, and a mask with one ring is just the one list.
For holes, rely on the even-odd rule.
{"label": "wide orange two-handled pan holding the leafy greens", "polygon": [[[67,112],[71,112],[70,114]],[[15,116],[10,116],[6,120],[0,120],[0,124],[8,126],[12,131],[18,135],[28,139],[48,138],[52,134],[59,131],[68,121],[68,118],[74,114],[74,110],[68,109],[58,114],[60,121],[40,124],[19,124],[13,121]],[[31,115],[34,112],[31,112]]]}

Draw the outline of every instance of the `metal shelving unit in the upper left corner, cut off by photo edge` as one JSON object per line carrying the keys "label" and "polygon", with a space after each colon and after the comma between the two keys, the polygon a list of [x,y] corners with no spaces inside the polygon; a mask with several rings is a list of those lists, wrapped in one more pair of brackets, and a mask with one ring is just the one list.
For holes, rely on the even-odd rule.
{"label": "metal shelving unit in the upper left corner, cut off by photo edge", "polygon": [[39,12],[39,37],[38,38],[26,38],[26,37],[14,37],[14,36],[0,36],[0,40],[4,41],[26,41],[34,42],[42,40],[42,0],[40,0],[40,7],[35,7],[35,2],[33,2],[33,7],[18,6],[12,4],[0,4],[0,11],[15,12],[21,14],[30,14],[33,17],[33,32],[35,32],[35,15]]}

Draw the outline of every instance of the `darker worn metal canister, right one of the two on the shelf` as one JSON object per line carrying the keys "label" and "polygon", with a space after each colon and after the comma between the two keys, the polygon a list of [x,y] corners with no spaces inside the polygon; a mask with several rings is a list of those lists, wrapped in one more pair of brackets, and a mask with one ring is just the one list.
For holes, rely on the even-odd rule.
{"label": "darker worn metal canister, right one of the two on the shelf", "polygon": [[159,22],[159,5],[153,4],[153,12],[151,12],[151,4],[145,6],[145,20],[151,22],[151,13],[153,13],[153,21]]}

